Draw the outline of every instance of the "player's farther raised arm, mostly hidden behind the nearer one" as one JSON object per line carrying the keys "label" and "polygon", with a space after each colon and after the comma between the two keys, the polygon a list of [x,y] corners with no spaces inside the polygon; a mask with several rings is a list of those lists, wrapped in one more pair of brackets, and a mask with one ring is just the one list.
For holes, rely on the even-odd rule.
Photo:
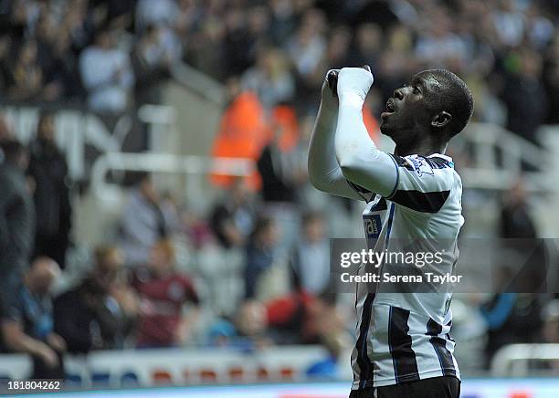
{"label": "player's farther raised arm, mostly hidden behind the nearer one", "polygon": [[363,200],[345,180],[336,160],[334,131],[338,120],[338,99],[328,87],[327,77],[328,74],[322,83],[321,106],[312,129],[308,157],[309,179],[316,189],[327,194]]}

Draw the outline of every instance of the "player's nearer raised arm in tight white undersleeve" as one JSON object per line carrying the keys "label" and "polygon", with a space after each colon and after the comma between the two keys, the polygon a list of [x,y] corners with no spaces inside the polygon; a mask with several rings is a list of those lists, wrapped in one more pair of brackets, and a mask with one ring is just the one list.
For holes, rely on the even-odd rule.
{"label": "player's nearer raised arm in tight white undersleeve", "polygon": [[364,68],[340,71],[334,148],[343,179],[366,191],[390,197],[396,191],[396,161],[374,146],[363,122],[364,99],[372,84],[373,75]]}

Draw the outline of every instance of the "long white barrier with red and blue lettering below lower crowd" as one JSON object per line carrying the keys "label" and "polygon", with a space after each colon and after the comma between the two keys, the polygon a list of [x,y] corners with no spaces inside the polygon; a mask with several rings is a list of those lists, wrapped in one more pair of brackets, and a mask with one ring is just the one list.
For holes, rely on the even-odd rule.
{"label": "long white barrier with red and blue lettering below lower crowd", "polygon": [[[67,356],[69,384],[151,386],[161,384],[226,384],[293,382],[306,379],[309,367],[328,357],[319,346],[295,346],[258,352],[224,348],[94,351]],[[0,355],[0,378],[25,379],[31,361],[25,355]]]}

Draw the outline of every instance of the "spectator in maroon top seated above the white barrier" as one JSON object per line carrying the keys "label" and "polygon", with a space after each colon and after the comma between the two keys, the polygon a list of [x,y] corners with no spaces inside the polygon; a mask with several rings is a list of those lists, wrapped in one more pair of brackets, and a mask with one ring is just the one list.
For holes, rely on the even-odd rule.
{"label": "spectator in maroon top seated above the white barrier", "polygon": [[140,297],[136,344],[140,348],[181,346],[192,336],[197,309],[185,314],[185,304],[198,306],[190,278],[175,269],[174,245],[155,244],[149,263],[134,273],[132,285]]}

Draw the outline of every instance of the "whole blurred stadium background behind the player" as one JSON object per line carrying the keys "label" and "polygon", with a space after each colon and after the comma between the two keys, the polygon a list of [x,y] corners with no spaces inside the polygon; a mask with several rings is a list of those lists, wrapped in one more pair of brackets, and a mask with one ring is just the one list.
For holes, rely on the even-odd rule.
{"label": "whole blurred stadium background behind the player", "polygon": [[[448,151],[462,238],[556,238],[558,16],[556,0],[0,1],[0,378],[347,396],[353,297],[328,293],[328,238],[361,237],[361,209],[307,180],[325,71],[371,66],[385,150],[392,90],[458,73],[476,99]],[[462,396],[559,396],[554,294],[452,307]],[[158,386],[181,388],[141,390]]]}

